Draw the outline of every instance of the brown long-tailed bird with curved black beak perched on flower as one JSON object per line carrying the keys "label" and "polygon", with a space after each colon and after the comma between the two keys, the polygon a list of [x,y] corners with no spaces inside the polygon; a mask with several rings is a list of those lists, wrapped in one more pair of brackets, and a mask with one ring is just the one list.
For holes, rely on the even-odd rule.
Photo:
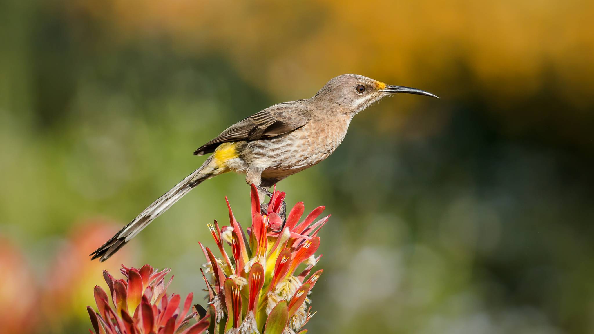
{"label": "brown long-tailed bird with curved black beak perched on flower", "polygon": [[[278,103],[236,122],[198,147],[194,155],[212,154],[91,253],[91,260],[109,259],[179,198],[217,175],[245,174],[245,181],[257,187],[261,200],[270,197],[267,188],[330,156],[345,138],[353,116],[383,97],[397,93],[437,97],[424,90],[343,74],[332,78],[309,99]],[[283,203],[283,212],[284,207]]]}

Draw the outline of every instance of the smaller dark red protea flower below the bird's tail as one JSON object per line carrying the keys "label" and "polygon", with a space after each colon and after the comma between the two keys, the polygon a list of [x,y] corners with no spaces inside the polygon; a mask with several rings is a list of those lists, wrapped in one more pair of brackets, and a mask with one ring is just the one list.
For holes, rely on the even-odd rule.
{"label": "smaller dark red protea flower below the bird's tail", "polygon": [[208,317],[197,319],[197,323],[188,327],[189,320],[197,316],[196,311],[186,315],[192,307],[192,294],[186,297],[182,311],[178,307],[181,297],[167,296],[167,287],[173,279],[172,276],[165,284],[169,269],[157,271],[148,264],[140,270],[122,267],[120,271],[126,279],[116,280],[103,271],[114,308],[110,307],[105,291],[95,286],[99,312],[87,306],[95,334],[200,334],[208,328]]}

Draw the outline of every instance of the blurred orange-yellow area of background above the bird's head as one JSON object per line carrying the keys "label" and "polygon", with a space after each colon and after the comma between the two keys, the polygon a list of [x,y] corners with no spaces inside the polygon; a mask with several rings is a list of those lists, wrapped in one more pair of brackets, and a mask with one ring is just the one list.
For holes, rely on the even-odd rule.
{"label": "blurred orange-yellow area of background above the bird's head", "polygon": [[193,52],[218,50],[246,80],[283,97],[307,96],[312,92],[304,83],[353,70],[431,87],[461,63],[489,93],[505,96],[546,86],[547,70],[576,103],[594,84],[592,1],[109,0],[68,6],[122,26],[123,38],[160,31]]}

